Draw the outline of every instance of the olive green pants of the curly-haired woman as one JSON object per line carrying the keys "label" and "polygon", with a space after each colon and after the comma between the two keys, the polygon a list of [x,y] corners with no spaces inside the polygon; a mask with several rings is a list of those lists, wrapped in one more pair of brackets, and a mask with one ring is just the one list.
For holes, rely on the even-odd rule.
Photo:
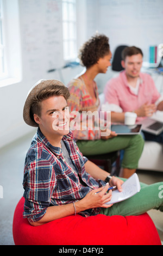
{"label": "olive green pants of the curly-haired woman", "polygon": [[122,167],[136,169],[143,150],[144,141],[141,135],[118,135],[108,140],[77,141],[83,155],[98,155],[124,150]]}

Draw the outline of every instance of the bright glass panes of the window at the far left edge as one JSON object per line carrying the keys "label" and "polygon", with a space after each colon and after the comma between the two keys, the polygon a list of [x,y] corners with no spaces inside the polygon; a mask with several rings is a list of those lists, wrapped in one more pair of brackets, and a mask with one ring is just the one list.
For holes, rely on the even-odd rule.
{"label": "bright glass panes of the window at the far left edge", "polygon": [[7,76],[7,70],[5,66],[4,16],[2,0],[0,0],[0,79],[5,76]]}

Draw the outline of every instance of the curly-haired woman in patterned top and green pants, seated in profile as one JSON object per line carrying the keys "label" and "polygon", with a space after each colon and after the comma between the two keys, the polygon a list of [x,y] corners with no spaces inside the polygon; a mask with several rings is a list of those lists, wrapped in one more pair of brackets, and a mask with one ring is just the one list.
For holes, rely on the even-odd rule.
{"label": "curly-haired woman in patterned top and green pants, seated in profile", "polygon": [[[99,127],[99,116],[97,118],[96,115],[93,115],[91,127],[88,121],[90,113],[97,112],[100,104],[98,88],[94,79],[99,73],[106,73],[111,65],[111,57],[109,39],[105,35],[92,36],[80,48],[79,59],[86,71],[68,83],[71,94],[68,106],[72,113],[74,111],[80,113],[78,119],[79,123],[82,121],[82,125],[80,123],[78,129],[71,128],[83,155],[105,154],[124,149],[120,176],[129,178],[135,173],[143,150],[144,142],[141,135],[117,136],[114,131],[110,131],[110,134],[106,135],[107,133],[104,133],[101,126]],[[74,125],[73,122],[71,124]]]}

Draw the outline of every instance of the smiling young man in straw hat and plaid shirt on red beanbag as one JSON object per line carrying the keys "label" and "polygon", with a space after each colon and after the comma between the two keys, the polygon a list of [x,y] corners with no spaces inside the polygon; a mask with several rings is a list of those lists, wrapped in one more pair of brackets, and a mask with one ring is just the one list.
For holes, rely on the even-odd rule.
{"label": "smiling young man in straw hat and plaid shirt on red beanbag", "polygon": [[68,89],[57,80],[39,81],[27,96],[23,118],[38,130],[24,165],[23,216],[30,224],[41,225],[73,214],[137,215],[153,207],[163,210],[163,199],[158,198],[161,183],[141,184],[135,199],[105,204],[111,199],[112,191],[106,193],[109,185],[122,191],[123,181],[108,176],[80,153],[69,131],[69,96]]}

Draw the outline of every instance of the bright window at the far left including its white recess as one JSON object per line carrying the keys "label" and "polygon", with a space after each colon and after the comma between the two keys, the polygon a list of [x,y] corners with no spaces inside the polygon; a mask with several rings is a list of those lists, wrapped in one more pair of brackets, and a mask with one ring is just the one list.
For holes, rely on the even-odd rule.
{"label": "bright window at the far left including its white recess", "polygon": [[0,0],[0,87],[22,78],[18,0]]}

